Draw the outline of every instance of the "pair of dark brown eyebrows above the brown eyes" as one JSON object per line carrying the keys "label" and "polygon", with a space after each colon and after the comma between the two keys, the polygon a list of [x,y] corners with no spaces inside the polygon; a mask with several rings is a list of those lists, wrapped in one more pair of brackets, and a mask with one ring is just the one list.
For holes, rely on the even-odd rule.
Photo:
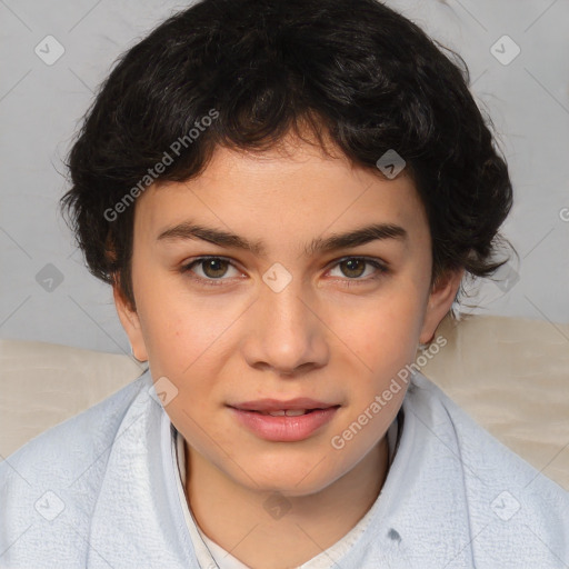
{"label": "pair of dark brown eyebrows above the brown eyes", "polygon": [[[326,253],[339,249],[348,249],[369,243],[376,240],[396,239],[406,241],[407,231],[393,223],[372,223],[346,233],[333,233],[326,239],[313,239],[305,247],[305,254]],[[267,249],[261,241],[250,241],[241,236],[228,231],[183,221],[177,226],[164,229],[158,237],[158,241],[194,240],[201,239],[219,247],[243,249],[257,257],[267,257]]]}

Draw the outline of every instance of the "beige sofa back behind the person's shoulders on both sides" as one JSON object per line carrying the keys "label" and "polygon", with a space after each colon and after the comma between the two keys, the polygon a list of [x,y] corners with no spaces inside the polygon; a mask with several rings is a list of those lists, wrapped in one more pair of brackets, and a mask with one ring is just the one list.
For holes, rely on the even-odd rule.
{"label": "beige sofa back behind the person's shoulders on both sides", "polygon": [[[569,491],[569,325],[446,318],[421,372],[475,420]],[[443,342],[439,340],[439,346]],[[0,459],[137,378],[128,356],[0,340]]]}

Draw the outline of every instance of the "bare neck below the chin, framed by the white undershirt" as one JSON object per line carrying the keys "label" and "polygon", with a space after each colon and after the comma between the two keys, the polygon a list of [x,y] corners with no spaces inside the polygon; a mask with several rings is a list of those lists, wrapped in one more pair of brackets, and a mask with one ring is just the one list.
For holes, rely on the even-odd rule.
{"label": "bare neck below the chin, framed by the white undershirt", "polygon": [[[198,526],[252,569],[297,567],[339,541],[379,496],[389,457],[383,437],[352,470],[319,492],[283,497],[237,483],[184,447],[186,495]],[[287,513],[279,516],[279,508]]]}

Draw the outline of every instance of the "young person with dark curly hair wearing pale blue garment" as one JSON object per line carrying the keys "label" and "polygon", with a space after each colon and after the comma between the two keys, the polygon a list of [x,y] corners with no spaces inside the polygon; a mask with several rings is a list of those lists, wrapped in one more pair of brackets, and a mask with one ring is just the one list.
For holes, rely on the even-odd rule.
{"label": "young person with dark curly hair wearing pale blue garment", "polygon": [[512,200],[417,26],[203,0],[120,59],[69,168],[149,368],[0,465],[1,567],[568,566],[567,492],[410,366]]}

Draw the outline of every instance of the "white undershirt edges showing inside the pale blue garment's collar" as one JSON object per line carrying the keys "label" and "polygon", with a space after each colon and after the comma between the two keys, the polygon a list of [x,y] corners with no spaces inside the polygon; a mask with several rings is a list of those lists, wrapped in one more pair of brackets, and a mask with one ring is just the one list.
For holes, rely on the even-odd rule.
{"label": "white undershirt edges showing inside the pale blue garment's collar", "polygon": [[[400,420],[402,421],[402,409],[400,410]],[[183,516],[186,518],[186,523],[188,526],[188,531],[190,533],[200,567],[202,569],[214,569],[216,567],[219,569],[249,569],[247,565],[226,551],[222,547],[218,546],[218,543],[209,539],[196,522],[193,515],[188,507],[188,501],[183,491],[183,488],[186,487],[186,453],[183,447],[183,437],[180,435],[180,432],[178,432],[176,428],[172,430],[174,432],[174,436],[172,437],[172,452],[176,452],[179,472],[179,476],[176,477],[178,493],[180,497]],[[400,436],[401,432],[399,429],[399,421],[398,418],[396,418],[387,431],[389,466],[391,466],[391,462],[396,456]],[[358,540],[360,535],[366,530],[370,521],[370,517],[371,508],[360,519],[360,521],[358,521],[358,523],[348,533],[346,533],[346,536],[343,536],[343,538],[333,543],[326,551],[322,551],[306,563],[302,563],[297,569],[330,569],[335,567],[336,562],[346,555],[346,552]]]}

